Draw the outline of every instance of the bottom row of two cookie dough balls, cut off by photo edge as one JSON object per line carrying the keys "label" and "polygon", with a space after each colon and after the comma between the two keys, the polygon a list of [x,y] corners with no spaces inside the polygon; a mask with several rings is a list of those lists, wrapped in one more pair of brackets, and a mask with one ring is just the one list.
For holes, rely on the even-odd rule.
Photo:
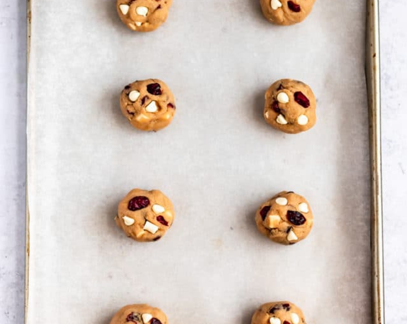
{"label": "bottom row of two cookie dough balls, cut off by photo edge", "polygon": [[[127,305],[112,318],[110,324],[167,324],[167,316],[158,308],[146,304]],[[251,324],[306,324],[304,314],[291,302],[270,302],[261,305],[252,316]]]}

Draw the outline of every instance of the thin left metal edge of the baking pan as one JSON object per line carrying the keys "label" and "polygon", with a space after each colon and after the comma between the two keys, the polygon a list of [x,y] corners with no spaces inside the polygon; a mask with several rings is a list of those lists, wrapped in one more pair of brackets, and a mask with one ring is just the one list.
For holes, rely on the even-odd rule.
{"label": "thin left metal edge of the baking pan", "polygon": [[[26,106],[28,114],[28,75],[30,67],[30,52],[31,52],[31,0],[27,0],[27,92]],[[28,118],[27,118],[28,125]],[[28,128],[27,128],[28,130]],[[26,130],[26,257],[25,257],[25,288],[24,288],[24,323],[27,323],[28,315],[28,274],[29,274],[29,258],[30,258],[30,212],[28,207],[28,131]]]}

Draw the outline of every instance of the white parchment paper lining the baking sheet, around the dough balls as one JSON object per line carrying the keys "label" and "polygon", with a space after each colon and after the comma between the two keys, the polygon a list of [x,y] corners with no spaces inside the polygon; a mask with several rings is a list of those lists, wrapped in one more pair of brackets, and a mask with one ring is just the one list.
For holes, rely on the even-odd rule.
{"label": "white parchment paper lining the baking sheet, around the dough balls", "polygon": [[[170,323],[249,323],[259,304],[285,299],[309,323],[369,323],[365,4],[317,1],[302,24],[278,27],[257,1],[175,1],[149,34],[128,31],[114,4],[31,4],[28,324],[107,324],[140,302]],[[177,102],[171,126],[151,134],[118,107],[123,86],[148,77]],[[309,132],[263,121],[264,92],[283,77],[317,95]],[[175,205],[156,244],[114,224],[132,187]],[[280,190],[306,196],[315,215],[292,247],[253,220]]]}

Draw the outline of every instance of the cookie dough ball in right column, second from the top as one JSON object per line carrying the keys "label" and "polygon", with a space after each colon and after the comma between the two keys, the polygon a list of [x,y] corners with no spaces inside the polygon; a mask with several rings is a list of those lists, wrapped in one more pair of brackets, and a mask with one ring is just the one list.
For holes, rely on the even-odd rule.
{"label": "cookie dough ball in right column, second from the top", "polygon": [[311,88],[301,81],[282,79],[265,94],[264,119],[274,128],[297,134],[312,128],[317,101]]}

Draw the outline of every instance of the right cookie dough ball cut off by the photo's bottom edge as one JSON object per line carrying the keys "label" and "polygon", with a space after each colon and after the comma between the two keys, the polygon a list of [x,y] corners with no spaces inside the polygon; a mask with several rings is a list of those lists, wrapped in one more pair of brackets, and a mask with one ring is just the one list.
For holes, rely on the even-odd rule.
{"label": "right cookie dough ball cut off by the photo's bottom edge", "polygon": [[263,304],[252,316],[252,324],[306,324],[301,309],[291,302]]}

